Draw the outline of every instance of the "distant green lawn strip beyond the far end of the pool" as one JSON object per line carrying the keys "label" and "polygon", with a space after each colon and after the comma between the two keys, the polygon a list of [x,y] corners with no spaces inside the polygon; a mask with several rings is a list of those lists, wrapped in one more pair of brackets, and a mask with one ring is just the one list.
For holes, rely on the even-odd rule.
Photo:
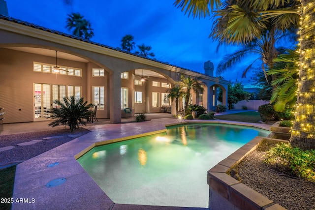
{"label": "distant green lawn strip beyond the far end of the pool", "polygon": [[259,123],[260,116],[259,112],[241,112],[229,115],[215,115],[216,119],[219,120],[231,120],[231,121],[239,121],[239,122],[253,122]]}

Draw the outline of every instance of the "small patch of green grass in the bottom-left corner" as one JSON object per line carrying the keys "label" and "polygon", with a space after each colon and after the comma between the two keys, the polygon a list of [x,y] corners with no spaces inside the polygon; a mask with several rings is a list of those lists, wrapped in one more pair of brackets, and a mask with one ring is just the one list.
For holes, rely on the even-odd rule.
{"label": "small patch of green grass in the bottom-left corner", "polygon": [[[16,166],[0,170],[0,198],[12,198]],[[10,210],[11,203],[0,203],[1,210]]]}

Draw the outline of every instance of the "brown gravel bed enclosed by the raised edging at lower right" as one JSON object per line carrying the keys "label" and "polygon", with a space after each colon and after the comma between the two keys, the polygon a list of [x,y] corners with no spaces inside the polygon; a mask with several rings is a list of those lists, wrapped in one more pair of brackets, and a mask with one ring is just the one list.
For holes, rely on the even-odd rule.
{"label": "brown gravel bed enclosed by the raised edging at lower right", "polygon": [[315,182],[294,178],[263,163],[265,150],[254,150],[238,165],[241,181],[288,210],[315,209]]}

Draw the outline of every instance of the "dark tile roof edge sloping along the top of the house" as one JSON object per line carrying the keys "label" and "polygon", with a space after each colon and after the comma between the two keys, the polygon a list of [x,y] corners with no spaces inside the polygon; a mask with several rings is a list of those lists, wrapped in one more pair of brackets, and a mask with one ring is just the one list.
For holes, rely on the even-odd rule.
{"label": "dark tile roof edge sloping along the top of the house", "polygon": [[169,64],[168,62],[163,62],[163,61],[159,61],[157,59],[151,59],[151,58],[147,58],[147,57],[142,57],[142,56],[139,56],[137,54],[130,53],[130,52],[127,52],[125,50],[122,50],[119,47],[117,47],[117,48],[110,47],[108,45],[100,44],[100,43],[97,43],[97,42],[94,42],[94,41],[91,41],[91,40],[88,40],[88,39],[84,39],[82,37],[70,35],[68,33],[64,33],[64,32],[58,31],[58,30],[48,29],[46,27],[42,27],[42,26],[39,26],[39,25],[36,25],[36,24],[33,24],[33,23],[29,23],[29,22],[26,22],[26,21],[15,19],[15,18],[12,18],[12,17],[9,17],[9,16],[5,16],[5,15],[2,15],[2,14],[0,14],[0,19],[1,20],[10,21],[10,22],[13,22],[13,23],[17,23],[17,24],[21,24],[21,25],[24,25],[24,26],[28,26],[28,27],[31,27],[31,28],[34,28],[34,29],[39,29],[39,30],[44,30],[44,31],[47,31],[47,32],[55,33],[55,34],[58,34],[58,35],[61,35],[61,36],[65,36],[65,37],[68,37],[68,38],[76,39],[76,40],[87,42],[87,43],[90,43],[90,44],[94,44],[94,45],[97,45],[97,46],[100,46],[100,47],[105,47],[105,48],[108,48],[108,49],[111,49],[111,50],[116,50],[116,51],[119,51],[119,52],[122,52],[122,53],[130,54],[130,55],[137,56],[137,57],[140,57],[140,58],[144,58],[144,59],[147,59],[147,60],[156,61],[156,62],[165,64],[165,65],[174,66],[176,68],[181,68],[181,69],[184,69],[184,70],[187,70],[187,71],[191,71],[191,72],[194,72],[194,73],[197,73],[197,74],[201,74],[201,75],[204,75],[204,76],[211,77],[211,76],[209,76],[207,74],[203,74],[203,73],[200,73],[200,72],[197,72],[197,71],[193,71],[193,70],[190,70],[190,69],[187,69],[187,68],[183,68],[183,67],[180,67],[180,66]]}

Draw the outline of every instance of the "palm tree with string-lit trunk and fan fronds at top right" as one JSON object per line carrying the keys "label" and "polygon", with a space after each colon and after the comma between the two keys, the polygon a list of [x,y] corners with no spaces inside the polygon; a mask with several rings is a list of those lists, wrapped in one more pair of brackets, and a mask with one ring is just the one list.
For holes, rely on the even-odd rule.
{"label": "palm tree with string-lit trunk and fan fronds at top right", "polygon": [[[290,23],[297,25],[296,16],[301,16],[298,90],[290,144],[304,150],[315,149],[315,54],[312,50],[315,46],[315,25],[312,23],[315,20],[314,0],[290,0],[294,7],[288,8],[281,8],[284,0],[239,1],[247,6],[229,6],[230,12],[225,13],[222,18],[225,22],[218,30],[227,43],[249,43],[259,37],[260,31],[266,28],[265,24],[273,17],[279,17],[275,24],[283,24],[283,29],[287,29]],[[301,9],[296,9],[299,3]],[[186,13],[199,17],[209,15],[209,7],[213,9],[215,4],[220,13],[222,5],[221,0],[176,0],[174,4],[186,10]]]}

